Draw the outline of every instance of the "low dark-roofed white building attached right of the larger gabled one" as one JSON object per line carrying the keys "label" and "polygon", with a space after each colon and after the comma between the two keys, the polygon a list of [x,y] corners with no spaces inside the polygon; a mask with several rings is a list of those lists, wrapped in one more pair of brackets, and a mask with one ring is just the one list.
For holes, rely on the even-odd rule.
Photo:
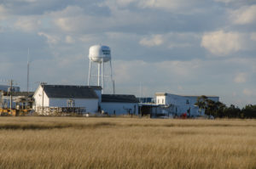
{"label": "low dark-roofed white building attached right of the larger gabled one", "polygon": [[138,100],[134,95],[102,94],[101,108],[108,115],[137,115]]}

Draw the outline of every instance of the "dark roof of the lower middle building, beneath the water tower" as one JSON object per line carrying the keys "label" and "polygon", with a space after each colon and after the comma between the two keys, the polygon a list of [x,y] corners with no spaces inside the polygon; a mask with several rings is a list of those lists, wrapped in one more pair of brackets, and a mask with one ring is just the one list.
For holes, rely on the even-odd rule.
{"label": "dark roof of the lower middle building, beneath the water tower", "polygon": [[102,94],[102,102],[138,103],[134,95]]}

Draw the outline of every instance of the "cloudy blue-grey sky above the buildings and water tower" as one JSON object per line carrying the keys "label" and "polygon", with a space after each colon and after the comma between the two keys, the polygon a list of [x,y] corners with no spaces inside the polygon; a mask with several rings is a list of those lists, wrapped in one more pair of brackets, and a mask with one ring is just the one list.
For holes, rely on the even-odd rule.
{"label": "cloudy blue-grey sky above the buildings and water tower", "polygon": [[[218,95],[256,104],[255,0],[0,0],[0,79],[87,84],[88,50],[112,49],[116,93]],[[4,83],[4,82],[2,82]]]}

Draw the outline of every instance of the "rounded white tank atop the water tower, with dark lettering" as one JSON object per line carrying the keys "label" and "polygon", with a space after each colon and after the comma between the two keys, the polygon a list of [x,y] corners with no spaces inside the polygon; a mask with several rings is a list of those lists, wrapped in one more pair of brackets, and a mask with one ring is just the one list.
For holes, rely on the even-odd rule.
{"label": "rounded white tank atop the water tower, with dark lettering", "polygon": [[111,52],[108,46],[94,45],[89,48],[90,61],[102,63],[111,59]]}

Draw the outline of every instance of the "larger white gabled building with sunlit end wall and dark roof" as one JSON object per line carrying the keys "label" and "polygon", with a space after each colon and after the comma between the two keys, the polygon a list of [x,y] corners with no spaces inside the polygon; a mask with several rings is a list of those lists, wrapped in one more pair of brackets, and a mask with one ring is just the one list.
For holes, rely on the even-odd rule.
{"label": "larger white gabled building with sunlit end wall and dark roof", "polygon": [[41,84],[33,95],[34,109],[73,107],[95,113],[99,109],[101,90],[102,87]]}

